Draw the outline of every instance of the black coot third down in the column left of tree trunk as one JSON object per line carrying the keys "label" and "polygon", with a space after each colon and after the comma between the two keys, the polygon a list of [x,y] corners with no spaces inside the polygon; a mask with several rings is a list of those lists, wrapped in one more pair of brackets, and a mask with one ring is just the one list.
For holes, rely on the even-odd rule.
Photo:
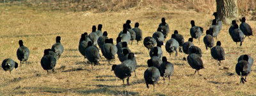
{"label": "black coot third down in the column left of tree trunk", "polygon": [[205,45],[206,50],[208,50],[208,47],[212,48],[212,46],[214,46],[214,39],[211,36],[209,30],[206,31],[206,36],[204,36],[204,45]]}

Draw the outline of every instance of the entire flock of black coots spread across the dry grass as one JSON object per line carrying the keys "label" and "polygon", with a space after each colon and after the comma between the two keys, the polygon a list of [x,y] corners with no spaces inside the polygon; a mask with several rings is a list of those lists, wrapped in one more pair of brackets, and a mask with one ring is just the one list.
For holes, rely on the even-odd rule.
{"label": "entire flock of black coots spread across the dry grass", "polygon": [[[221,60],[225,60],[225,51],[221,47],[221,41],[214,41],[214,38],[217,39],[218,34],[221,31],[222,23],[218,19],[218,14],[213,14],[215,19],[212,20],[212,25],[206,31],[206,36],[204,37],[204,44],[206,50],[211,48],[211,56],[215,60],[218,60],[218,65],[220,65]],[[232,37],[234,42],[241,42],[240,46],[244,41],[245,37],[252,36],[253,32],[250,27],[245,22],[245,18],[242,18],[242,23],[240,26],[237,25],[236,21],[232,21],[232,25],[228,30],[230,36]],[[116,45],[113,43],[113,38],[108,37],[108,32],[104,31],[102,33],[102,24],[98,25],[98,29],[96,31],[96,26],[93,25],[92,32],[88,35],[87,32],[81,34],[81,38],[79,40],[79,52],[84,56],[84,59],[87,59],[90,64],[99,64],[100,60],[100,50],[102,52],[102,56],[104,56],[108,63],[110,64],[111,60],[115,59],[115,55],[118,55],[118,59],[121,64],[113,64],[111,71],[114,71],[116,77],[123,80],[127,78],[127,85],[129,85],[129,78],[131,77],[132,72],[136,76],[136,67],[137,62],[135,58],[135,54],[129,49],[128,44],[132,45],[134,40],[137,43],[143,40],[143,45],[148,49],[148,53],[150,55],[150,59],[147,60],[148,69],[144,72],[145,82],[148,88],[148,85],[153,85],[159,81],[160,77],[169,78],[173,74],[173,64],[168,62],[167,58],[163,56],[163,47],[165,46],[165,50],[171,55],[171,53],[175,53],[175,57],[178,55],[178,50],[180,53],[184,53],[183,60],[187,60],[188,64],[195,69],[199,74],[200,69],[204,69],[204,62],[202,60],[202,50],[193,44],[193,38],[198,39],[198,43],[200,44],[200,37],[204,33],[204,29],[200,26],[195,25],[195,21],[191,20],[191,29],[190,35],[191,38],[188,41],[184,42],[184,37],[179,34],[177,30],[174,31],[171,38],[164,43],[164,40],[168,37],[168,33],[170,32],[169,25],[165,22],[165,18],[161,19],[161,24],[157,28],[157,31],[152,34],[152,37],[148,36],[143,39],[143,32],[139,28],[139,23],[136,22],[134,28],[131,27],[131,20],[127,20],[127,22],[123,25],[123,30],[118,34],[116,38]],[[63,53],[63,45],[61,45],[61,37],[56,37],[56,43],[52,45],[51,49],[44,50],[44,56],[41,59],[41,65],[44,70],[54,71],[54,67],[56,66],[56,62],[58,58],[61,57]],[[216,43],[216,46],[214,46]],[[22,62],[27,62],[29,58],[29,48],[24,46],[23,41],[19,41],[20,47],[17,50],[17,57],[20,60],[20,65]],[[98,47],[99,46],[99,47]],[[99,50],[100,48],[100,50]],[[186,58],[185,55],[188,55]],[[246,81],[246,76],[251,72],[253,65],[253,58],[250,55],[241,55],[238,58],[236,64],[236,72],[239,76],[241,76],[241,83]],[[4,71],[12,71],[13,68],[18,67],[18,63],[12,60],[11,58],[6,58],[3,60],[2,67]],[[245,76],[245,78],[243,78]]]}

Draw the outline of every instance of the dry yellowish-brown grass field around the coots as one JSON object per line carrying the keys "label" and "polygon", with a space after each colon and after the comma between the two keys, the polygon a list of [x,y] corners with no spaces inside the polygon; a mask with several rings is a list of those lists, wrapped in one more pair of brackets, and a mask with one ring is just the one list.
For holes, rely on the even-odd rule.
{"label": "dry yellowish-brown grass field around the coots", "polygon": [[[169,56],[164,46],[164,56],[174,64],[174,73],[170,83],[163,83],[163,78],[155,87],[147,89],[143,78],[147,69],[147,60],[150,58],[148,50],[143,46],[143,41],[129,45],[136,54],[138,68],[137,76],[130,78],[130,86],[123,87],[122,80],[117,79],[106,58],[100,59],[100,65],[92,67],[86,64],[87,60],[78,51],[79,39],[83,32],[91,32],[92,25],[102,24],[102,31],[108,31],[108,37],[116,41],[122,25],[127,19],[140,22],[143,37],[152,36],[156,31],[161,18],[165,17],[170,26],[170,34],[165,42],[170,39],[174,30],[178,30],[188,41],[191,28],[190,20],[205,29],[209,29],[212,13],[198,13],[193,10],[179,10],[176,8],[152,8],[150,6],[140,9],[124,10],[119,12],[92,13],[72,11],[42,11],[25,6],[8,6],[0,8],[0,64],[4,58],[13,58],[16,62],[16,51],[19,48],[19,39],[24,41],[30,52],[28,64],[23,64],[12,74],[0,72],[0,95],[256,95],[256,67],[247,77],[245,84],[239,83],[239,76],[235,72],[237,58],[248,54],[256,57],[255,36],[246,38],[243,46],[234,43],[228,34],[230,25],[224,25],[218,40],[222,42],[225,50],[225,60],[217,65],[211,57],[211,51],[205,50],[202,39],[205,32],[194,44],[202,50],[202,60],[205,69],[200,70],[202,76],[195,72],[187,61],[182,61],[183,53]],[[256,21],[246,21],[253,31]],[[240,22],[238,23],[240,24]],[[47,74],[42,69],[40,60],[45,48],[51,48],[56,36],[61,36],[64,46],[63,55],[56,64],[56,72]],[[216,42],[216,41],[215,41]],[[116,44],[116,43],[115,43]],[[102,55],[102,53],[100,53]],[[185,56],[187,57],[187,55]],[[117,55],[111,64],[120,64]],[[224,69],[228,67],[228,69]],[[126,84],[126,83],[125,83]]]}

